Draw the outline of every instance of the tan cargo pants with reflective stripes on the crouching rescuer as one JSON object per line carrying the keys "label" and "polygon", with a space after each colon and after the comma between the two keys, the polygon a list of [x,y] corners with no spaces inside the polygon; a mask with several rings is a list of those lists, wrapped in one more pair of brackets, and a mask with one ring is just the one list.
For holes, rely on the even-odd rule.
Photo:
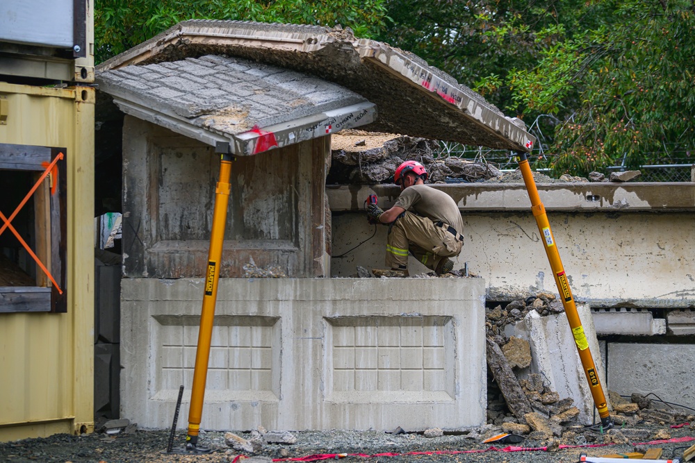
{"label": "tan cargo pants with reflective stripes on the crouching rescuer", "polygon": [[425,267],[434,270],[444,258],[459,255],[462,245],[463,242],[432,220],[406,211],[389,229],[386,265],[391,269],[407,269],[410,252]]}

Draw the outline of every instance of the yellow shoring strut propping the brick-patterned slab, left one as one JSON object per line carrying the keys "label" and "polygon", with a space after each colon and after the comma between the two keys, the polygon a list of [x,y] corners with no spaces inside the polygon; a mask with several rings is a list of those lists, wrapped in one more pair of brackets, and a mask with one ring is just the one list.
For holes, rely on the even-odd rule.
{"label": "yellow shoring strut propping the brick-patterned slab, left one", "polygon": [[234,158],[223,153],[220,160],[220,181],[215,189],[215,208],[213,210],[213,227],[210,235],[210,251],[205,276],[203,305],[200,311],[200,329],[198,346],[195,352],[195,369],[193,371],[193,387],[190,392],[190,408],[188,409],[188,435],[186,435],[186,450],[197,453],[207,453],[209,448],[198,447],[198,434],[203,413],[205,382],[208,375],[208,360],[210,344],[215,320],[215,303],[217,302],[218,280],[220,279],[220,261],[222,260],[222,244],[224,243],[224,228],[227,224],[227,205],[231,185],[231,162]]}

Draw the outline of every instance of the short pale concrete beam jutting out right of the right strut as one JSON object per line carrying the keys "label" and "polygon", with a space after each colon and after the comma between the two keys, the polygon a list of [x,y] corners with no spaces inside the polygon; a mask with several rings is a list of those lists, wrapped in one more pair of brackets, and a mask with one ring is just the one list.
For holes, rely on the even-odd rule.
{"label": "short pale concrete beam jutting out right of the right strut", "polygon": [[655,319],[647,309],[594,309],[597,335],[665,335],[666,320]]}

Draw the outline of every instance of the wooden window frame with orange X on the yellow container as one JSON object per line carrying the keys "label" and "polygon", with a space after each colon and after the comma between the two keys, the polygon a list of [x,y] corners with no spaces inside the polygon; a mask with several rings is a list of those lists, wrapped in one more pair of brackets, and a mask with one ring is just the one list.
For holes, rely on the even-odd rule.
{"label": "wooden window frame with orange X on the yellow container", "polygon": [[[45,165],[52,162],[58,153],[63,153],[63,159],[56,163],[58,179],[57,181],[53,179],[56,190],[52,194],[47,190],[49,178],[45,178],[43,180],[45,185],[34,192],[34,205],[37,227],[50,230],[48,232],[50,239],[36,241],[42,241],[43,243],[38,246],[47,248],[42,254],[50,256],[50,264],[47,262],[44,264],[51,271],[63,294],[51,285],[46,276],[40,276],[40,269],[37,269],[38,286],[0,287],[0,313],[67,312],[67,162],[65,160],[67,150],[52,146],[0,143],[0,169],[33,171],[37,174],[35,178],[46,170]],[[42,191],[43,195],[41,195]],[[9,214],[11,211],[5,216],[9,218]],[[0,226],[3,224],[4,222],[0,221]],[[11,232],[5,230],[3,233]],[[47,236],[44,235],[44,238]],[[41,255],[38,252],[37,254]]]}

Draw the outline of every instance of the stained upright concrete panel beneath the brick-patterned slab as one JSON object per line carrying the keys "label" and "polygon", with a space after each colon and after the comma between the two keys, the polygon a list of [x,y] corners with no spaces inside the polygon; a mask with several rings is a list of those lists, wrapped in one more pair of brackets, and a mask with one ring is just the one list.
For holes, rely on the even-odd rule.
{"label": "stained upright concrete panel beneath the brick-patterned slab", "polygon": [[[219,160],[211,146],[126,116],[124,275],[200,277],[208,256]],[[287,276],[323,276],[328,137],[232,165],[221,278],[243,265],[277,264]]]}

